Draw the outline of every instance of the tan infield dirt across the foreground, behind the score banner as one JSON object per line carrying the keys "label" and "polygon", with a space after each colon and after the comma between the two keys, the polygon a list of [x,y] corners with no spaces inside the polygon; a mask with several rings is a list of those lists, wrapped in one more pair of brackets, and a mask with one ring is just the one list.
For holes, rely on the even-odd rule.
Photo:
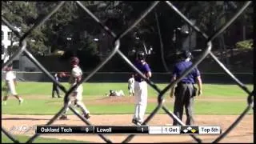
{"label": "tan infield dirt across the foreground, behind the score banner", "polygon": [[[113,98],[112,100],[118,100],[118,98]],[[146,115],[148,116],[148,115]],[[230,132],[225,138],[220,142],[254,142],[254,129],[253,129],[253,116],[252,114],[247,114],[245,118]],[[34,134],[33,126],[44,125],[46,122],[50,121],[53,115],[8,115],[2,114],[2,126],[6,130],[10,131],[14,126],[30,126],[30,135]],[[53,125],[85,125],[77,116],[69,115],[69,120],[57,120]],[[102,126],[131,126],[131,114],[104,114],[104,115],[92,115],[90,122],[94,125]],[[186,120],[184,116],[183,122]],[[222,132],[234,122],[238,115],[195,115],[195,125],[196,126],[221,126]],[[157,114],[149,122],[150,126],[166,126],[172,124],[172,118],[167,114]],[[15,131],[12,131],[14,134]],[[112,142],[122,142],[127,135],[105,135]],[[202,139],[202,142],[213,142],[214,139],[218,138],[218,134],[212,135],[196,135],[198,138]],[[87,142],[105,142],[102,138],[98,137],[96,134],[90,135],[42,135],[45,138],[58,138],[58,139],[74,139]],[[194,139],[189,135],[180,134],[165,134],[165,135],[137,135],[130,142],[194,142]]]}

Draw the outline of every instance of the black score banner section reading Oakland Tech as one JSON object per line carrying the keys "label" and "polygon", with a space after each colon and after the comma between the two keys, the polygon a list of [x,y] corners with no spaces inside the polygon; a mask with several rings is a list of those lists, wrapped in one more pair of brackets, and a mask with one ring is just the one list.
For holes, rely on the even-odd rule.
{"label": "black score banner section reading Oakland Tech", "polygon": [[37,126],[36,134],[94,134],[94,126]]}

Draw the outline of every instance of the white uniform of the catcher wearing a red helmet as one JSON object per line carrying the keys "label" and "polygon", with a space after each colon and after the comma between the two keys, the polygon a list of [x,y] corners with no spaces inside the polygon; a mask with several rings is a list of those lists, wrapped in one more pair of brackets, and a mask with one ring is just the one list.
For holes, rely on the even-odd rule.
{"label": "white uniform of the catcher wearing a red helmet", "polygon": [[[82,78],[82,70],[79,66],[75,65],[73,69],[71,70],[71,75],[70,75],[70,88],[74,85],[76,85],[76,80],[75,78]],[[78,106],[83,114],[90,114],[90,111],[86,109],[86,106],[82,102],[82,84],[80,84],[77,89],[74,90],[70,102],[74,103],[74,105]],[[69,109],[66,109],[66,112]],[[64,114],[66,114],[66,112]]]}

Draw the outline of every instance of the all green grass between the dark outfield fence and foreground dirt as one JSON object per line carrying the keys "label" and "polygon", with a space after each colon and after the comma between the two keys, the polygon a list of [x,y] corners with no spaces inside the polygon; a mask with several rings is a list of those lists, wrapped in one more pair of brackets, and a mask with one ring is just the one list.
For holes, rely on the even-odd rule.
{"label": "all green grass between the dark outfield fence and foreground dirt", "polygon": [[[162,90],[167,84],[158,84]],[[22,106],[17,106],[18,101],[11,97],[6,106],[2,106],[2,114],[56,114],[63,106],[62,98],[51,98],[50,82],[18,82],[18,94],[25,97]],[[68,88],[68,84],[64,83]],[[103,95],[110,89],[124,90],[128,94],[126,83],[85,83],[83,100],[91,98],[103,98]],[[252,90],[253,86],[249,85]],[[169,95],[166,93],[166,96]],[[236,85],[203,85],[202,97],[209,98],[230,98],[228,101],[208,102],[197,101],[194,104],[195,114],[240,114],[246,106],[246,93]],[[39,98],[40,97],[40,98]],[[157,93],[149,86],[149,97],[157,98]],[[232,102],[232,98],[241,98],[240,101]],[[166,102],[166,105],[173,110],[173,103]],[[114,104],[86,104],[91,114],[133,114],[133,103]],[[149,103],[147,113],[154,110],[157,103]],[[163,113],[162,110],[159,113]],[[252,114],[252,111],[250,111]]]}

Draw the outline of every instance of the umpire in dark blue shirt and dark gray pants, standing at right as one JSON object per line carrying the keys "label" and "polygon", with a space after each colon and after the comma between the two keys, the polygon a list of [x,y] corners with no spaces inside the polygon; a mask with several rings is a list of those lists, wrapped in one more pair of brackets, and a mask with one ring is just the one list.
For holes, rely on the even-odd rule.
{"label": "umpire in dark blue shirt and dark gray pants, standing at right", "polygon": [[[192,62],[190,62],[191,58],[192,54],[189,51],[182,51],[180,61],[175,63],[174,65],[171,81],[179,78],[181,74],[192,65]],[[199,96],[202,94],[202,80],[197,67],[194,68],[194,70],[192,70],[190,74],[187,74],[185,78],[182,78],[180,82],[178,82],[175,90],[174,87],[172,87],[172,89],[170,90],[170,98],[173,98],[173,96],[175,95],[174,114],[182,121],[183,107],[185,106],[186,125],[188,126],[194,124],[193,104],[194,96],[196,96],[197,93],[197,89],[194,86],[195,82],[197,82],[198,84]],[[178,122],[175,119],[173,125],[178,125]]]}

